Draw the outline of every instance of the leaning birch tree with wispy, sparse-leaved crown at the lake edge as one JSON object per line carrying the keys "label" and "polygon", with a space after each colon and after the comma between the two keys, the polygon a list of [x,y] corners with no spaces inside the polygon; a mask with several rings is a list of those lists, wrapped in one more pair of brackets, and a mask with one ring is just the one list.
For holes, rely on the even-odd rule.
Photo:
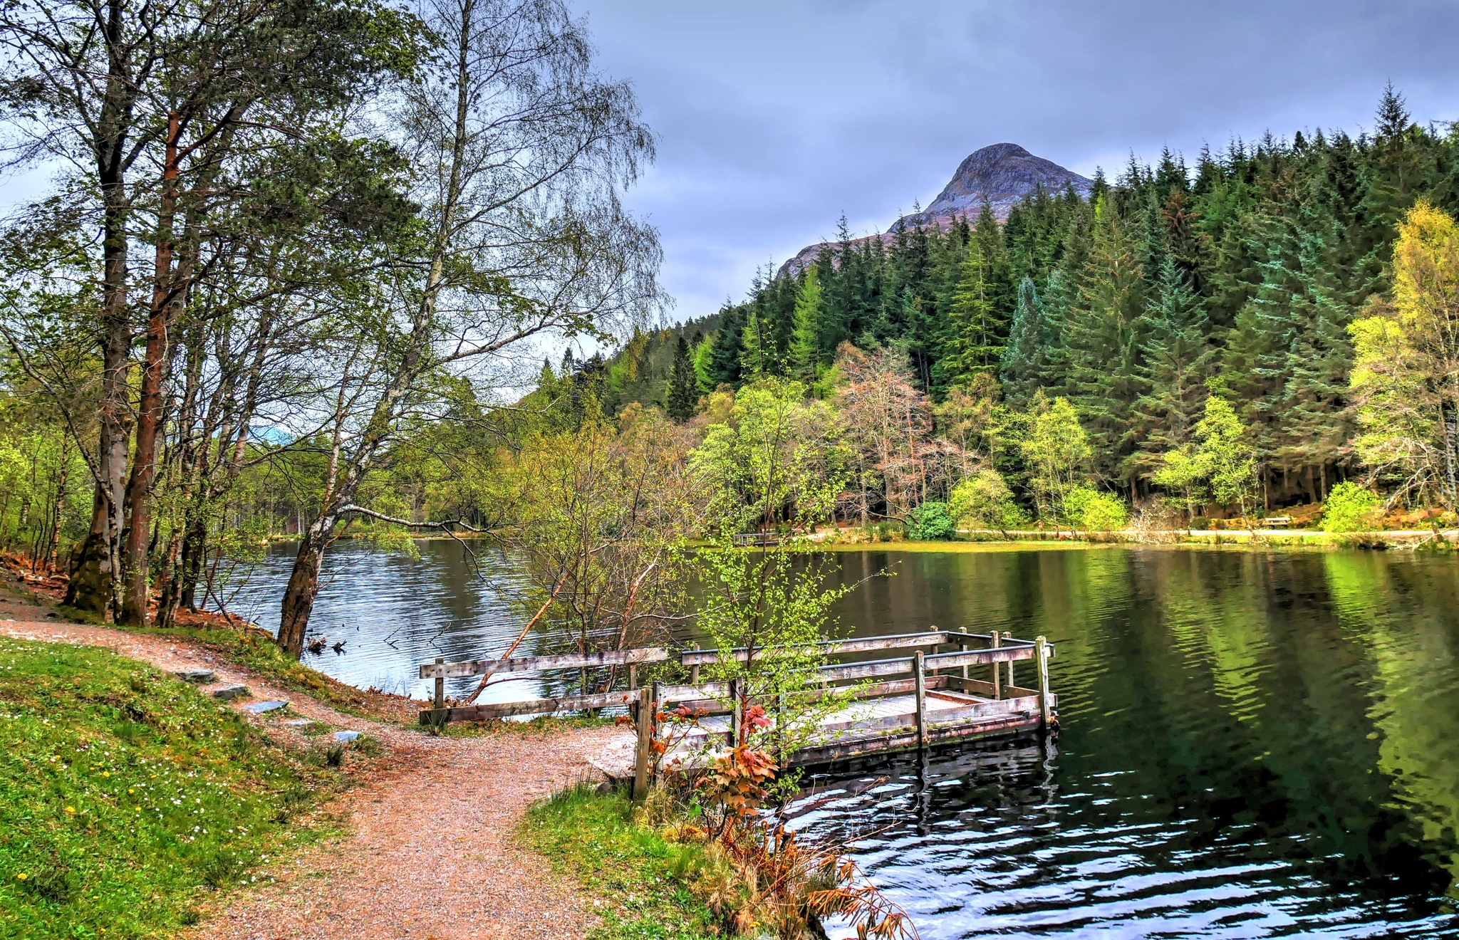
{"label": "leaning birch tree with wispy, sparse-leaved crown at the lake edge", "polygon": [[325,366],[330,453],[299,539],[279,646],[298,656],[324,551],[401,421],[436,379],[511,383],[538,338],[594,337],[661,302],[657,233],[619,194],[654,156],[632,89],[592,68],[581,22],[559,0],[426,0],[430,64],[404,90],[397,134],[422,205],[365,318]]}

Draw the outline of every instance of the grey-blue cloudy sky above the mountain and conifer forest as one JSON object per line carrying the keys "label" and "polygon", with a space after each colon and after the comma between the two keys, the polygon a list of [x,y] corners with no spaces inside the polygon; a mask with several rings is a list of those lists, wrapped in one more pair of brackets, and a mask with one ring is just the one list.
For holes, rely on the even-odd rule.
{"label": "grey-blue cloudy sky above the mountain and conifer forest", "polygon": [[1459,120],[1459,0],[570,0],[661,137],[632,191],[674,319],[845,213],[884,229],[999,141],[1084,175],[1370,127],[1389,79]]}

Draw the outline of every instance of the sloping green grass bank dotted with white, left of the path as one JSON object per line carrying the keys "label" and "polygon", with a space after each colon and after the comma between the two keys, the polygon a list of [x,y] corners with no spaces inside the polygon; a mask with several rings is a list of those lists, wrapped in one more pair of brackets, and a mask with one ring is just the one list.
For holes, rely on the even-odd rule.
{"label": "sloping green grass bank dotted with white, left of the path", "polygon": [[337,772],[107,650],[0,638],[0,936],[172,937],[334,831]]}

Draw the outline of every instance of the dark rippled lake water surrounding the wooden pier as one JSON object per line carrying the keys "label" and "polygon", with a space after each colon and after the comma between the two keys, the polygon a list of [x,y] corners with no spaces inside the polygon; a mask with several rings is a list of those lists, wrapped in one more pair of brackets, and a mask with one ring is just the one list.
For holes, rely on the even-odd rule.
{"label": "dark rippled lake water surrounding the wooden pier", "polygon": [[[239,612],[277,618],[287,554]],[[817,777],[795,825],[856,839],[944,937],[1459,937],[1459,563],[1377,552],[845,554],[896,571],[845,599],[856,634],[929,625],[1058,644],[1056,742]],[[420,662],[512,635],[511,583],[460,548],[343,548],[315,666],[425,691]],[[252,609],[244,606],[251,603]],[[382,641],[391,637],[391,644]],[[528,697],[535,689],[514,684]],[[511,688],[511,686],[505,686]]]}

